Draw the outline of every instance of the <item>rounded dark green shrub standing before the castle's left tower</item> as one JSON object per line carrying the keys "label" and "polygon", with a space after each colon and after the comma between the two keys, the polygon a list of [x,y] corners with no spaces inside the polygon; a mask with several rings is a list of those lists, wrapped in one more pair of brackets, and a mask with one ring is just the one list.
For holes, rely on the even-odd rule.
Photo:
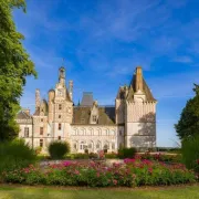
{"label": "rounded dark green shrub standing before the castle's left tower", "polygon": [[49,145],[49,154],[52,159],[62,159],[65,154],[70,153],[70,145],[66,142],[51,142]]}

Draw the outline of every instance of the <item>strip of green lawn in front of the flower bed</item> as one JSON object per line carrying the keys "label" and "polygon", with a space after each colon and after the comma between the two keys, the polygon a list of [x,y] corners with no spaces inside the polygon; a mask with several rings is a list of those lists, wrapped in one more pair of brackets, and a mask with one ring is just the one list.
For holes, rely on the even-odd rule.
{"label": "strip of green lawn in front of the flower bed", "polygon": [[0,185],[0,199],[199,199],[199,186],[167,188],[55,188]]}

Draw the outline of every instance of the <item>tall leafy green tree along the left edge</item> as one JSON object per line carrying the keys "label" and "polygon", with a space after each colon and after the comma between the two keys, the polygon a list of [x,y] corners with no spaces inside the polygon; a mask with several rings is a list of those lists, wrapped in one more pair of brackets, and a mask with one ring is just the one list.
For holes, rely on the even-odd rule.
{"label": "tall leafy green tree along the left edge", "polygon": [[25,77],[34,75],[34,64],[22,45],[24,36],[15,29],[12,10],[25,12],[25,0],[0,2],[0,140],[12,139],[19,128],[14,121]]}

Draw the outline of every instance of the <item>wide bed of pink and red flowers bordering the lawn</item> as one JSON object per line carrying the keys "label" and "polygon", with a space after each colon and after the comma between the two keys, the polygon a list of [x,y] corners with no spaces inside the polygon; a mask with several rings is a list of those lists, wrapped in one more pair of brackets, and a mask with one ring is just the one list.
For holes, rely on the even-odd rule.
{"label": "wide bed of pink and red flowers bordering the lawn", "polygon": [[159,161],[125,159],[124,164],[106,166],[103,163],[64,161],[45,169],[29,166],[4,172],[4,182],[59,186],[157,186],[195,182],[195,172],[184,165],[165,165]]}

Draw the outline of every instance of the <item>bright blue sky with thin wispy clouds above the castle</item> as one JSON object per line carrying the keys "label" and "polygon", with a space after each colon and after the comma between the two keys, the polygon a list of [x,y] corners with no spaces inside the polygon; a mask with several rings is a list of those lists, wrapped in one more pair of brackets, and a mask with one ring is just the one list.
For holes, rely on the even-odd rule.
{"label": "bright blue sky with thin wispy clouds above the castle", "polygon": [[34,90],[57,82],[65,59],[74,102],[92,91],[101,105],[114,105],[119,85],[129,84],[137,65],[157,104],[157,145],[176,146],[174,124],[199,83],[198,0],[28,0],[13,12],[39,73],[28,77],[23,107],[34,109]]}

